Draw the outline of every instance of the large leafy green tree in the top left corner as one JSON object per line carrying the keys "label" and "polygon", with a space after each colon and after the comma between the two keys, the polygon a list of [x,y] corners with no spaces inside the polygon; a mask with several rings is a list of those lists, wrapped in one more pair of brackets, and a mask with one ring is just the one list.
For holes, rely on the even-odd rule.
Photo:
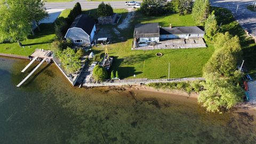
{"label": "large leafy green tree in the top left corner", "polygon": [[20,41],[26,39],[31,32],[25,3],[20,0],[0,1],[0,43],[3,41]]}

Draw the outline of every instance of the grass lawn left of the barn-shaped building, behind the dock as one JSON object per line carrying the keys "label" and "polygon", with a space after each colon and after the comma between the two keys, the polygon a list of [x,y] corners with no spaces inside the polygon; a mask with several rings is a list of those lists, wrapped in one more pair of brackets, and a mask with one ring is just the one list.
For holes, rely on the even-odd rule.
{"label": "grass lawn left of the barn-shaped building, behind the dock", "polygon": [[24,48],[20,47],[17,42],[0,44],[0,53],[17,54],[28,56],[35,49],[49,50],[50,45],[55,37],[54,27],[52,24],[41,24],[41,31],[35,30],[35,36],[30,35],[25,41],[21,41]]}

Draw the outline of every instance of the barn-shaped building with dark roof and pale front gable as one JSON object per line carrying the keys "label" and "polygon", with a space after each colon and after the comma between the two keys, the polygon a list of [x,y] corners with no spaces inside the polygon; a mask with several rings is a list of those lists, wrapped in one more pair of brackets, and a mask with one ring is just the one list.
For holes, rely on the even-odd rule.
{"label": "barn-shaped building with dark roof and pale front gable", "polygon": [[95,21],[86,14],[80,14],[69,27],[65,38],[74,45],[90,45],[96,31]]}

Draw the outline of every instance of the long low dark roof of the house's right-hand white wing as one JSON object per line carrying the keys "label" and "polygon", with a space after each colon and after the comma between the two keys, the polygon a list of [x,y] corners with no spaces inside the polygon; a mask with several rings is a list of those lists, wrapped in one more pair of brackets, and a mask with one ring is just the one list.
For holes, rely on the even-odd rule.
{"label": "long low dark roof of the house's right-hand white wing", "polygon": [[194,27],[162,27],[160,29],[160,35],[170,35],[170,34],[205,34],[203,30],[198,28],[197,26]]}

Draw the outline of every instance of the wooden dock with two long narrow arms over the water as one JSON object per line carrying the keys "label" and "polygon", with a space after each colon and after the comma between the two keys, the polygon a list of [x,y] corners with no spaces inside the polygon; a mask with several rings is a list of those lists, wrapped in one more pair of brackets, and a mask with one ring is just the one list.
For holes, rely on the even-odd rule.
{"label": "wooden dock with two long narrow arms over the water", "polygon": [[32,60],[28,63],[28,65],[21,70],[22,73],[24,73],[36,60],[42,60],[32,71],[28,74],[27,77],[25,77],[18,85],[17,87],[20,87],[23,83],[27,81],[27,79],[35,73],[35,71],[46,61],[47,63],[50,63],[53,59],[52,57],[52,51],[43,50],[43,49],[36,49],[34,53],[32,53],[30,56]]}

